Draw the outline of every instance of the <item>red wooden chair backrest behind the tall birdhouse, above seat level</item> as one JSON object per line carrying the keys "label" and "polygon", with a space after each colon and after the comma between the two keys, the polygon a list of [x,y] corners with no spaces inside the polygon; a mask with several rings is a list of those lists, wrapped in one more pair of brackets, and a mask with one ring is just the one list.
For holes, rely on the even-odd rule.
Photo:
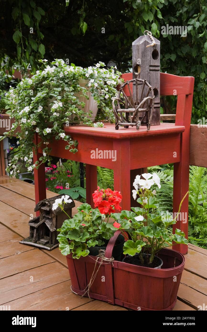
{"label": "red wooden chair backrest behind the tall birdhouse, above seat level", "polygon": [[[122,74],[126,81],[133,79],[132,73]],[[190,126],[192,99],[193,99],[194,77],[176,76],[160,73],[160,96],[177,96],[176,125]],[[133,85],[130,83],[133,91]],[[124,89],[127,97],[130,97],[127,86]]]}

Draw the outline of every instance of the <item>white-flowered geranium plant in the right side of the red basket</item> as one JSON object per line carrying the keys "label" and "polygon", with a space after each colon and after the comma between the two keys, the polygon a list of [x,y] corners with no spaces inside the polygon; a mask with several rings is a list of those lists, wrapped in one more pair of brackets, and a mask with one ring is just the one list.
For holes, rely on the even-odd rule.
{"label": "white-flowered geranium plant in the right side of the red basket", "polygon": [[[116,227],[129,233],[130,239],[124,243],[124,254],[139,254],[141,265],[151,266],[155,254],[161,248],[172,246],[173,241],[187,244],[187,239],[181,230],[176,229],[175,234],[172,234],[169,229],[170,225],[176,223],[177,215],[173,218],[172,214],[159,210],[156,192],[151,190],[155,184],[160,188],[159,177],[155,173],[145,173],[142,177],[144,179],[137,175],[133,184],[133,197],[136,199],[138,196],[137,202],[141,207],[132,207],[132,211],[123,210],[121,213],[112,214],[117,221],[110,226],[112,229]],[[180,207],[187,194],[182,199]],[[145,253],[147,255],[144,255]]]}

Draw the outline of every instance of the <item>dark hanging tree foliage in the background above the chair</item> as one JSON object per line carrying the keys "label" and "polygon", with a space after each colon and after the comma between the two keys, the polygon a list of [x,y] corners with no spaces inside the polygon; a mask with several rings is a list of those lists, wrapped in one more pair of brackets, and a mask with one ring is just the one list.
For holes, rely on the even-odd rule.
{"label": "dark hanging tree foliage in the background above the chair", "polygon": [[[198,119],[205,117],[205,0],[76,0],[66,3],[14,0],[3,2],[1,11],[1,30],[7,40],[0,56],[6,54],[13,60],[18,57],[25,67],[30,63],[33,70],[38,68],[40,57],[53,60],[64,54],[71,62],[84,66],[92,65],[98,59],[105,63],[113,60],[120,71],[126,72],[132,67],[132,41],[145,30],[152,31],[160,40],[161,70],[195,77],[192,122],[197,123]],[[183,27],[185,31],[164,34],[163,27],[167,24]],[[34,29],[33,34],[30,27]]]}

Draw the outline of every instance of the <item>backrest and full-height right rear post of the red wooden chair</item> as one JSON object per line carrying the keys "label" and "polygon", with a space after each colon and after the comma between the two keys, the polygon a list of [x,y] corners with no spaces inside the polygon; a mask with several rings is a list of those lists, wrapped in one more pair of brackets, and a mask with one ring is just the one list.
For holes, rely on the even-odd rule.
{"label": "backrest and full-height right rear post of the red wooden chair", "polygon": [[[125,81],[133,79],[132,73],[123,74]],[[185,131],[181,133],[180,161],[174,163],[174,181],[173,181],[173,212],[178,212],[180,202],[186,192],[189,190],[189,159],[190,159],[190,121],[193,101],[194,77],[192,76],[176,76],[166,73],[160,73],[160,96],[177,96],[177,107],[175,125],[185,126]],[[132,84],[131,84],[132,91]],[[130,96],[127,89],[125,93]],[[185,220],[177,221],[173,225],[173,233],[175,228],[184,231],[188,235],[188,196],[184,200],[181,213],[185,213]],[[176,244],[174,248],[183,254],[187,253],[187,246]]]}

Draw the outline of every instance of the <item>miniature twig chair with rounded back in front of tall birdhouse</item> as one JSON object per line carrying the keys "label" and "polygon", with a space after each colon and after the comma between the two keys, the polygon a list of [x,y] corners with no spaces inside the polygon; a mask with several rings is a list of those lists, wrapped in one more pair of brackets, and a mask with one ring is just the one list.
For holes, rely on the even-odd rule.
{"label": "miniature twig chair with rounded back in front of tall birdhouse", "polygon": [[[142,92],[139,100],[139,104],[135,105],[133,100],[132,92],[129,84],[135,84],[136,91],[138,90],[138,84],[142,86]],[[124,87],[127,85],[130,93],[130,97],[127,97],[124,92]],[[143,91],[145,85],[148,86],[148,92],[145,98],[143,97]],[[112,106],[114,111],[114,116],[116,120],[115,129],[119,129],[120,125],[123,125],[125,128],[129,128],[131,125],[136,126],[137,129],[140,128],[141,124],[146,124],[147,129],[150,130],[150,122],[153,116],[154,111],[154,91],[152,86],[144,79],[134,78],[133,80],[126,81],[119,89],[118,96],[113,99]],[[117,105],[114,102],[117,101]],[[147,104],[145,106],[145,104]],[[121,106],[123,108],[121,108]],[[151,110],[151,113],[150,113]],[[144,116],[140,117],[139,113],[145,113]],[[150,116],[149,116],[150,113]]]}

